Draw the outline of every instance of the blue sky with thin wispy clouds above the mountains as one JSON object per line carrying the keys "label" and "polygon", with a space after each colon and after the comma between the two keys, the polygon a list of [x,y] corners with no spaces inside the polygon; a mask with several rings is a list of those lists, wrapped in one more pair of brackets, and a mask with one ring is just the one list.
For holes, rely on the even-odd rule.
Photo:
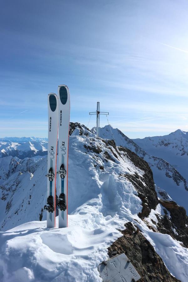
{"label": "blue sky with thin wispy clouds above the mountains", "polygon": [[187,14],[183,0],[3,1],[0,136],[47,137],[59,84],[72,122],[87,125],[100,101],[130,138],[188,131]]}

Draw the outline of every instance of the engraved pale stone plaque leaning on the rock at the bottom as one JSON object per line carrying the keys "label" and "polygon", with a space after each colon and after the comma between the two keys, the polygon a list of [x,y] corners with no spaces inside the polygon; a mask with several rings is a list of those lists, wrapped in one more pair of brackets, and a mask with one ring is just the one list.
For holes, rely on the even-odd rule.
{"label": "engraved pale stone plaque leaning on the rock at the bottom", "polygon": [[99,264],[103,282],[136,282],[141,277],[124,253]]}

